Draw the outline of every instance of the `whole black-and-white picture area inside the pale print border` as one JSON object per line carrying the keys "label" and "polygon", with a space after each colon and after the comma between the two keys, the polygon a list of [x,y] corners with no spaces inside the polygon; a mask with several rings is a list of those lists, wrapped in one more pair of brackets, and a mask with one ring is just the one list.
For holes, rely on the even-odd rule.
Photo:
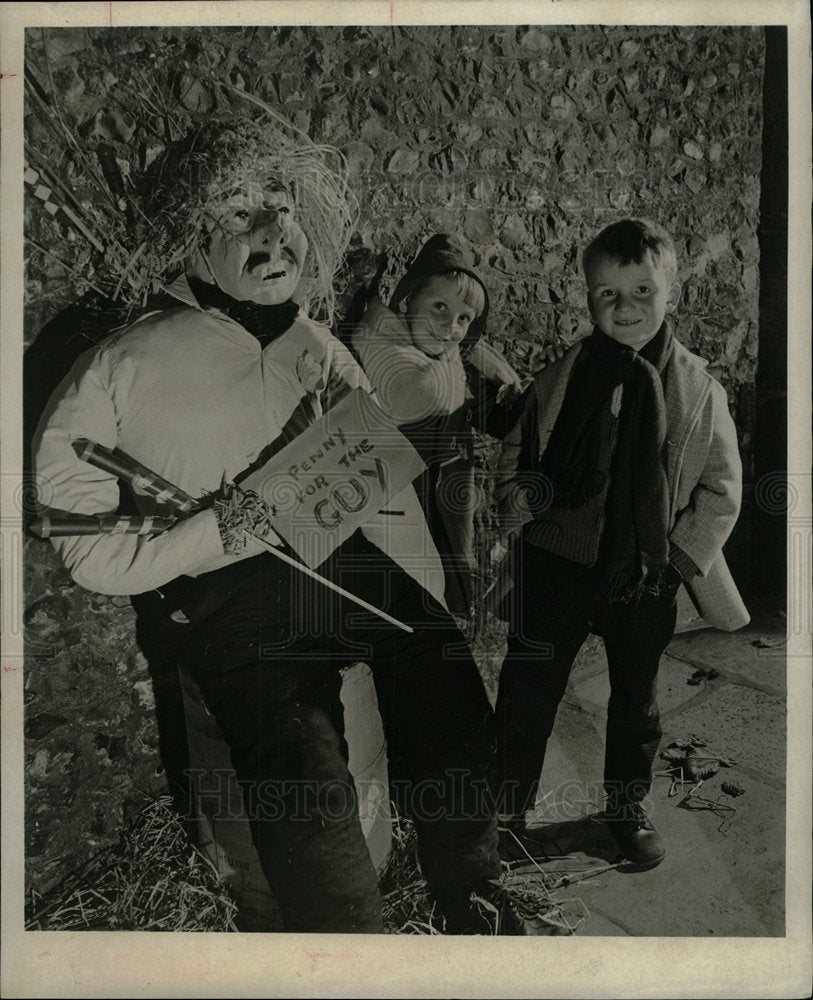
{"label": "whole black-and-white picture area inside the pale print border", "polygon": [[26,931],[785,938],[788,54],[25,28]]}

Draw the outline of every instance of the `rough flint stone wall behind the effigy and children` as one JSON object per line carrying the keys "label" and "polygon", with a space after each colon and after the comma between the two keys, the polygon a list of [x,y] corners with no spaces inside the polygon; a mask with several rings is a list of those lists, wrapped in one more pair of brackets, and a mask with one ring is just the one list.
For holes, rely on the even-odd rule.
{"label": "rough flint stone wall behind the effigy and children", "polygon": [[[30,160],[67,178],[80,203],[100,187],[83,181],[64,126],[92,160],[104,109],[118,112],[104,141],[126,194],[167,135],[241,103],[228,81],[345,152],[360,220],[344,303],[380,254],[386,290],[427,236],[462,231],[491,292],[488,336],[523,374],[534,345],[589,329],[578,257],[590,236],[626,215],[661,221],[684,282],[678,335],[709,359],[740,431],[746,503],[729,550],[745,579],[760,29],[37,30],[27,54],[42,91],[27,99]],[[30,343],[92,275],[63,216],[32,197],[26,220]],[[27,865],[42,891],[115,840],[128,795],[162,777],[131,610],[73,586],[42,543],[29,541],[26,574]]]}

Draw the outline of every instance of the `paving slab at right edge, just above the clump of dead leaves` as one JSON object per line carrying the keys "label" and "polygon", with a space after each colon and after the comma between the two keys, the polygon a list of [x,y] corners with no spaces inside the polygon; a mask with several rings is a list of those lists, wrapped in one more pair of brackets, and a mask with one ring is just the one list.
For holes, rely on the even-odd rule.
{"label": "paving slab at right edge, just above the clump of dead leaves", "polygon": [[693,733],[716,752],[785,781],[785,701],[740,684],[727,684],[669,716],[664,745]]}

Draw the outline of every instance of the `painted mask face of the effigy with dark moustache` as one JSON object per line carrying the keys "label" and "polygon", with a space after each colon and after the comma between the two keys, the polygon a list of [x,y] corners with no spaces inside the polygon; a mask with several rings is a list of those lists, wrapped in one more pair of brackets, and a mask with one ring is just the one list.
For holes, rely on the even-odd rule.
{"label": "painted mask face of the effigy with dark moustache", "polygon": [[217,202],[213,214],[203,256],[217,286],[241,302],[286,302],[308,252],[291,195],[272,181],[245,181]]}

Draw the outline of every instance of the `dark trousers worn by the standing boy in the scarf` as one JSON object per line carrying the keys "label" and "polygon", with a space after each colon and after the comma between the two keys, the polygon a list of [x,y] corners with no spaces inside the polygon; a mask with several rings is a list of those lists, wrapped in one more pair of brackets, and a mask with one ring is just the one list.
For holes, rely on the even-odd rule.
{"label": "dark trousers worn by the standing boy in the scarf", "polygon": [[675,602],[640,608],[596,597],[584,566],[518,546],[508,652],[497,700],[497,798],[505,813],[533,807],[556,711],[590,632],[607,653],[610,701],[604,787],[609,809],[640,802],[652,781],[662,730],[660,658],[675,629]]}

